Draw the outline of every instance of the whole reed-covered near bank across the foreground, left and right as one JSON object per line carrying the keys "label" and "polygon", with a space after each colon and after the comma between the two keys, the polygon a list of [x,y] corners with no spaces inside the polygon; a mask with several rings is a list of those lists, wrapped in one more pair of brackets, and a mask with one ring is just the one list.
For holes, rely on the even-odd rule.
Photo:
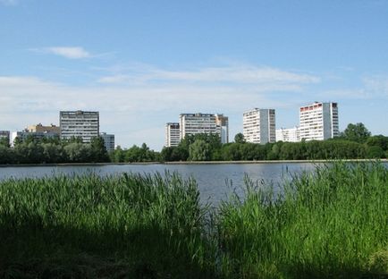
{"label": "whole reed-covered near bank across the foreground, left and right", "polygon": [[217,209],[177,174],[0,182],[0,277],[388,275],[388,169],[316,166]]}

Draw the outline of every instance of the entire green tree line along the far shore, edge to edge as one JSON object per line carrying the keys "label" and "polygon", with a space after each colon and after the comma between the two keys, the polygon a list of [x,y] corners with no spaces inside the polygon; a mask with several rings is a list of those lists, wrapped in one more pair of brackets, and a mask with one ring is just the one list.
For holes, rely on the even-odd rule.
{"label": "entire green tree line along the far shore, edge to edge", "polygon": [[246,142],[241,133],[234,142],[222,144],[218,135],[186,136],[177,147],[164,147],[161,152],[141,147],[115,148],[107,153],[104,139],[17,139],[14,148],[0,140],[0,164],[50,163],[133,163],[175,161],[240,161],[240,160],[316,160],[388,157],[388,137],[372,136],[362,123],[349,124],[339,137],[327,140],[266,143]]}

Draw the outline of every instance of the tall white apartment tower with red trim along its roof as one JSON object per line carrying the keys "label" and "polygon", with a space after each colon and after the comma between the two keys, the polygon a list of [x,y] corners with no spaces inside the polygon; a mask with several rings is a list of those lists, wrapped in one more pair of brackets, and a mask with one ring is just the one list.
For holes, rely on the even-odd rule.
{"label": "tall white apartment tower with red trim along its roof", "polygon": [[338,127],[337,103],[315,102],[299,108],[300,139],[324,140],[337,137]]}

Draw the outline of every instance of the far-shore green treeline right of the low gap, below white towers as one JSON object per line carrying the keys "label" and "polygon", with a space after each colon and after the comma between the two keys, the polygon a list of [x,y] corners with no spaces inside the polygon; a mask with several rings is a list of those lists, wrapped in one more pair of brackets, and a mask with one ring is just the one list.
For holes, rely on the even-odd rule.
{"label": "far-shore green treeline right of the low gap, below white towers", "polygon": [[340,137],[328,140],[276,142],[265,145],[245,142],[237,134],[235,142],[220,144],[216,135],[186,137],[178,147],[163,148],[162,161],[240,161],[386,158],[388,137],[371,136],[362,123],[349,124]]}

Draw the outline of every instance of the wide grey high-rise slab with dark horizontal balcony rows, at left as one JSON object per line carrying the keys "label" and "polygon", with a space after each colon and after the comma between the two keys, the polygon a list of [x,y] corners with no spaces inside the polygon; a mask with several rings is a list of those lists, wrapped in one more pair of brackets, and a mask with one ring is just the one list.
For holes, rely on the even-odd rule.
{"label": "wide grey high-rise slab with dark horizontal balcony rows, at left", "polygon": [[61,139],[72,137],[82,139],[89,143],[91,138],[99,135],[98,112],[66,111],[59,113],[59,125],[61,127]]}

